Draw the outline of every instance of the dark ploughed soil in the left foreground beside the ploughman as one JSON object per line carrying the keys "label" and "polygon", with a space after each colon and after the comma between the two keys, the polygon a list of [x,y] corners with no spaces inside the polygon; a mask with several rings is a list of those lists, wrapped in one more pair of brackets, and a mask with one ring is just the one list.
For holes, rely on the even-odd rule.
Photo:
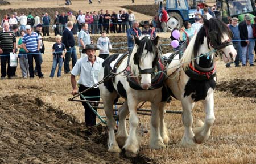
{"label": "dark ploughed soil in the left foreground beside the ploughman", "polygon": [[105,126],[86,128],[38,97],[1,97],[0,123],[0,163],[154,163],[109,153]]}

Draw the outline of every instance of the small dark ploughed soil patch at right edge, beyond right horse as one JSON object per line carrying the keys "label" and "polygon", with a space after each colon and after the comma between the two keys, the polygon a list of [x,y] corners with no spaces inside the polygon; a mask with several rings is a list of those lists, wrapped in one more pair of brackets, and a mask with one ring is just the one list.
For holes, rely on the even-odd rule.
{"label": "small dark ploughed soil patch at right edge, beyond right horse", "polygon": [[256,98],[256,80],[253,79],[233,79],[232,81],[223,81],[222,83],[217,84],[216,89],[231,92],[234,96],[238,97]]}

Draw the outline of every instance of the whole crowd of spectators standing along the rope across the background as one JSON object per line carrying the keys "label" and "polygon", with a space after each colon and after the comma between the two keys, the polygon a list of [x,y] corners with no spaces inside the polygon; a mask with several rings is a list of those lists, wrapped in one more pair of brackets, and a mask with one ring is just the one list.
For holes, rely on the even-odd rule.
{"label": "whole crowd of spectators standing along the rope across the background", "polygon": [[[203,12],[197,7],[195,11],[195,23],[191,24],[189,21],[185,21],[183,34],[181,36],[181,41],[188,41],[189,38],[193,37],[194,34],[199,30],[203,24],[203,17],[205,19],[214,18],[218,15],[215,12],[216,8],[205,7]],[[55,12],[53,22],[51,24],[51,18],[47,13],[41,15],[35,14],[35,17],[31,12],[26,16],[24,12],[20,15],[14,12],[11,15],[5,15],[2,19],[3,31],[0,33],[0,53],[9,54],[10,52],[17,53],[17,48],[19,49],[19,62],[20,68],[22,70],[22,77],[27,78],[28,75],[33,78],[34,75],[43,77],[41,70],[41,64],[43,62],[42,54],[44,54],[44,44],[43,36],[49,36],[50,27],[54,29],[54,34],[57,36],[56,44],[52,47],[53,53],[53,66],[51,77],[54,76],[54,71],[59,63],[59,71],[57,76],[61,76],[61,67],[63,60],[64,62],[64,73],[69,74],[69,62],[72,59],[72,66],[75,66],[77,61],[76,47],[79,47],[80,57],[84,57],[85,53],[82,50],[85,49],[86,45],[94,44],[90,39],[90,34],[101,33],[101,37],[95,44],[97,48],[100,49],[100,57],[105,59],[109,56],[109,50],[112,49],[109,38],[106,36],[109,31],[111,33],[126,33],[127,35],[127,45],[130,51],[134,45],[134,36],[141,36],[141,34],[148,34],[152,38],[156,37],[156,32],[166,32],[166,23],[169,15],[164,8],[161,9],[160,14],[156,14],[150,21],[141,22],[142,28],[138,21],[135,20],[135,15],[133,11],[125,9],[120,10],[119,13],[112,11],[100,10],[98,12],[86,11],[85,13],[79,10],[77,14],[73,15],[73,12]],[[250,66],[254,66],[253,63],[253,49],[255,49],[256,37],[256,22],[254,18],[254,25],[250,24],[250,17],[245,15],[245,20],[238,25],[237,18],[230,19],[228,27],[233,32],[233,44],[237,49],[238,55],[235,61],[235,66],[239,67],[239,62],[242,62],[242,66],[246,66],[246,62],[249,60]],[[246,27],[246,28],[245,28]],[[34,28],[34,30],[33,30]],[[248,29],[246,31],[246,29]],[[7,37],[8,32],[10,35]],[[75,45],[74,35],[78,34],[78,45]],[[16,38],[14,36],[21,36],[16,44]],[[33,36],[33,37],[32,37]],[[62,40],[61,40],[61,36]],[[27,38],[33,39],[33,48],[31,48],[31,43],[27,41]],[[241,39],[245,41],[240,41]],[[63,43],[60,45],[60,40]],[[5,45],[8,41],[8,48]],[[10,45],[10,43],[12,43]],[[61,54],[57,55],[56,45],[61,46]],[[62,53],[65,52],[65,53]],[[247,55],[247,57],[245,57]],[[35,60],[35,68],[33,68],[33,60]],[[15,77],[16,68],[11,68],[8,64],[8,69],[6,72],[6,64],[9,63],[10,57],[8,55],[1,55],[1,78],[5,77]],[[230,67],[230,63],[226,64],[226,67]]]}

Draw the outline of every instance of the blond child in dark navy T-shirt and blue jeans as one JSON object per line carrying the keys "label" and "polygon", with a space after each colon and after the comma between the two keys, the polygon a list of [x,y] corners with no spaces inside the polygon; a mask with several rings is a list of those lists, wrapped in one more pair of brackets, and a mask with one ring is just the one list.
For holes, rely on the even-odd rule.
{"label": "blond child in dark navy T-shirt and blue jeans", "polygon": [[63,57],[67,53],[65,45],[61,42],[61,36],[56,36],[56,43],[52,46],[52,55],[53,55],[53,63],[52,63],[52,71],[50,77],[54,77],[54,73],[59,63],[59,68],[57,72],[57,77],[61,76],[61,68],[63,64]]}

